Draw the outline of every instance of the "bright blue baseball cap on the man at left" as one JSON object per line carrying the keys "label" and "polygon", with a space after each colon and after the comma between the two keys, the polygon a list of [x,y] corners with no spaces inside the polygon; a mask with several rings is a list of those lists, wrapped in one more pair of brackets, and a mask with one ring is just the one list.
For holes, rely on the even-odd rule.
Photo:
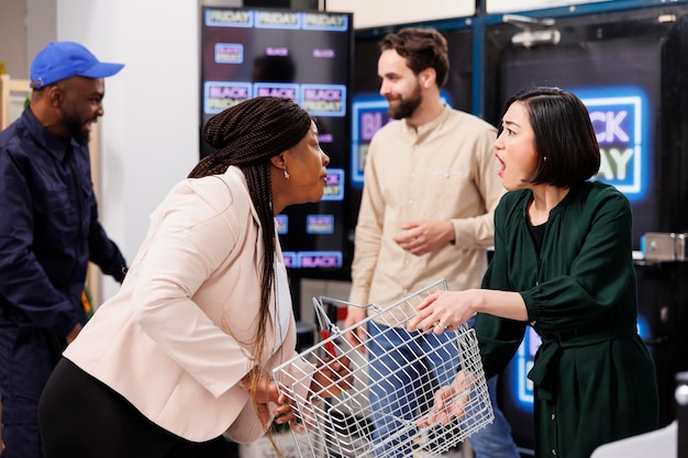
{"label": "bright blue baseball cap on the man at left", "polygon": [[52,42],[31,64],[31,88],[41,89],[53,82],[80,76],[106,78],[120,71],[124,64],[99,62],[86,47],[74,42]]}

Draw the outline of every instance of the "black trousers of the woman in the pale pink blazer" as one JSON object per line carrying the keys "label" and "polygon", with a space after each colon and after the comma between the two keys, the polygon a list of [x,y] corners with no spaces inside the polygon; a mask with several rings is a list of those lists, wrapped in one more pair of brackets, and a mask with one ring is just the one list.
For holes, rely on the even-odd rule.
{"label": "black trousers of the woman in the pale pink blazer", "polygon": [[66,358],[45,386],[38,423],[45,458],[232,457],[223,437],[192,443],[163,429]]}

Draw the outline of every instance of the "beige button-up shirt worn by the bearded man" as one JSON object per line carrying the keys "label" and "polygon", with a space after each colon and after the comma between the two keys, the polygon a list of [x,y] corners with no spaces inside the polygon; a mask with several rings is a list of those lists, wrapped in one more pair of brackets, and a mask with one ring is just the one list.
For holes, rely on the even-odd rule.
{"label": "beige button-up shirt worn by the bearded man", "polygon": [[[355,304],[388,306],[439,279],[452,290],[480,286],[493,211],[504,190],[487,122],[450,107],[418,130],[392,121],[374,136],[355,234]],[[415,256],[392,239],[418,220],[451,220],[454,244]],[[409,311],[404,313],[410,313]]]}

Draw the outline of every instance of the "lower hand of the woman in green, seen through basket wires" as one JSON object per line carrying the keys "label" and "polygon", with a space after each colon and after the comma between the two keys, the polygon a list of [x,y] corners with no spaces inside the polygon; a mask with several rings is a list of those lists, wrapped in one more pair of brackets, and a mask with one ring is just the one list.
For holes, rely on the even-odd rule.
{"label": "lower hand of the woman in green, seen through basket wires", "polygon": [[442,423],[448,425],[465,416],[465,406],[470,400],[470,387],[475,384],[473,376],[464,370],[456,373],[454,381],[440,388],[434,395],[434,404],[428,415],[421,417],[418,427],[428,427]]}

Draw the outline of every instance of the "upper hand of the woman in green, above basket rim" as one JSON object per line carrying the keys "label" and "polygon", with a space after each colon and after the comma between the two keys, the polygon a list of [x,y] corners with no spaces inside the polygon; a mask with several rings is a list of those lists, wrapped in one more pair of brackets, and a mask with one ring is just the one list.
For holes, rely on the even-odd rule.
{"label": "upper hand of the woman in green, above basket rim", "polygon": [[455,331],[475,316],[480,291],[437,291],[430,294],[418,305],[418,313],[408,321],[407,329],[435,334]]}

